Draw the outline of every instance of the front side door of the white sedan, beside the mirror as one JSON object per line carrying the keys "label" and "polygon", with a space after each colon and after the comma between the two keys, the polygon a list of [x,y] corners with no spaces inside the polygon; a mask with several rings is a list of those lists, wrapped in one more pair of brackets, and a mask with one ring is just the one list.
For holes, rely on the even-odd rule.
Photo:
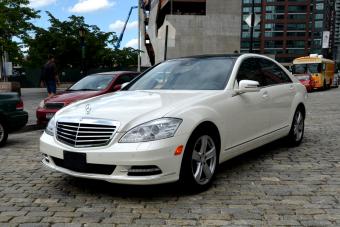
{"label": "front side door of the white sedan, beside the mirror", "polygon": [[268,132],[268,90],[264,87],[258,58],[245,59],[238,70],[235,89],[241,80],[260,83],[260,91],[235,94],[228,100],[227,147],[234,149],[255,142]]}

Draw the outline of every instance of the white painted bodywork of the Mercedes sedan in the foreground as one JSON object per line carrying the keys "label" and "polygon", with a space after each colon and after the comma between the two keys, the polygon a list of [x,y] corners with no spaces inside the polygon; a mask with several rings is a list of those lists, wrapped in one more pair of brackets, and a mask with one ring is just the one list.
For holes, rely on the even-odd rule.
{"label": "white painted bodywork of the Mercedes sedan in the foreground", "polygon": [[[51,169],[76,177],[94,178],[115,183],[158,184],[179,179],[183,153],[174,155],[176,148],[184,148],[190,135],[202,122],[212,122],[221,139],[220,162],[288,135],[294,112],[307,98],[305,87],[289,71],[293,83],[263,87],[258,92],[238,94],[235,82],[241,63],[249,57],[237,58],[224,90],[147,90],[121,91],[83,100],[58,111],[56,121],[68,117],[111,119],[120,123],[111,142],[101,147],[74,148],[61,143],[55,136],[44,133],[40,138],[43,164]],[[86,114],[85,106],[91,105]],[[141,143],[119,143],[130,129],[142,123],[172,117],[183,119],[174,137]],[[51,157],[63,159],[63,151],[83,152],[88,163],[112,164],[111,175],[74,172],[55,165]],[[134,165],[156,165],[162,174],[127,176]]]}

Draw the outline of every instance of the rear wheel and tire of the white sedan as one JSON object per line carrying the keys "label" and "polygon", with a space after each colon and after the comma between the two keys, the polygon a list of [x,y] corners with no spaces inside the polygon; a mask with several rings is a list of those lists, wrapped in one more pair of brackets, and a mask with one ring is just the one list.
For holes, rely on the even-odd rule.
{"label": "rear wheel and tire of the white sedan", "polygon": [[297,108],[294,113],[292,126],[287,136],[288,145],[291,147],[300,145],[303,139],[304,131],[305,131],[305,115],[302,111],[302,108]]}

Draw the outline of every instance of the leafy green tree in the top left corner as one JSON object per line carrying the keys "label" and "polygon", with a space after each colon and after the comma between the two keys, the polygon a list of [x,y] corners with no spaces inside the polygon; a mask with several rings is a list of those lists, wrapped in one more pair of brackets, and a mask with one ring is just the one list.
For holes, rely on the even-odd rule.
{"label": "leafy green tree in the top left corner", "polygon": [[20,45],[13,38],[27,38],[35,28],[30,21],[39,17],[28,4],[29,0],[0,0],[0,56],[6,51],[11,59],[22,58]]}

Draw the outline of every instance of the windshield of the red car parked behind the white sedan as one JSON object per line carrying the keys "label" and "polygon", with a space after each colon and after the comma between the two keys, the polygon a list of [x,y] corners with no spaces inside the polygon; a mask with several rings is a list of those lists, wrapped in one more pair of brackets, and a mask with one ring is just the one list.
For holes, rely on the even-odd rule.
{"label": "windshield of the red car parked behind the white sedan", "polygon": [[68,90],[71,91],[100,91],[111,83],[114,75],[94,74],[87,76],[72,85]]}

